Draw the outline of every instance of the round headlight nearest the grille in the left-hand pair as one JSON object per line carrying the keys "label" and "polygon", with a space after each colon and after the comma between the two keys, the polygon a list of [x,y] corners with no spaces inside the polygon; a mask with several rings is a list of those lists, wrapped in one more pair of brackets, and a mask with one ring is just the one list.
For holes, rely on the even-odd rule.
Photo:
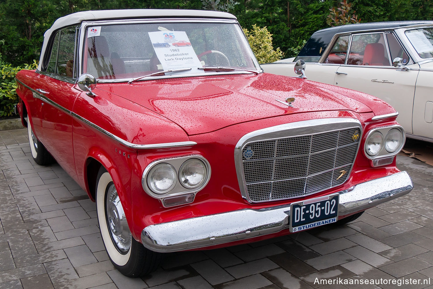
{"label": "round headlight nearest the grille in the left-hand pair", "polygon": [[200,159],[188,159],[179,169],[179,181],[184,188],[198,188],[206,177],[206,165]]}

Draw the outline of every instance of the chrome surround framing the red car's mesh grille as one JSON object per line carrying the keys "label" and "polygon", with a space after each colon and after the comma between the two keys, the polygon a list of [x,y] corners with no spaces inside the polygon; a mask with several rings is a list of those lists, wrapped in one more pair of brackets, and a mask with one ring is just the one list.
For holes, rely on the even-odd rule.
{"label": "chrome surround framing the red car's mesh grille", "polygon": [[[329,129],[326,129],[329,127]],[[246,192],[246,181],[242,166],[242,149],[246,144],[254,141],[266,141],[266,140],[277,140],[281,138],[287,138],[288,136],[303,136],[303,135],[314,135],[318,133],[348,129],[351,127],[357,127],[360,130],[360,138],[362,140],[362,124],[355,118],[324,118],[317,120],[303,120],[294,123],[284,123],[274,127],[267,127],[260,130],[255,130],[246,135],[242,136],[236,143],[234,149],[234,159],[236,167],[236,175],[238,177],[239,188],[242,198],[246,199],[249,203],[256,203],[251,201]],[[357,151],[359,151],[361,141],[358,143]],[[353,164],[350,167],[349,175],[352,172]],[[313,194],[312,194],[313,195]],[[259,203],[270,202],[270,201],[282,201],[282,200],[269,200],[261,201]]]}

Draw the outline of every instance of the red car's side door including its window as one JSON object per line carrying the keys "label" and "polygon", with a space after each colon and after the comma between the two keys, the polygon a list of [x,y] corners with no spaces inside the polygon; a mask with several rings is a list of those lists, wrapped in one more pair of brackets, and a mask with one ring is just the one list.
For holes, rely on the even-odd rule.
{"label": "red car's side door including its window", "polygon": [[45,71],[43,119],[43,144],[59,165],[75,176],[72,150],[72,116],[74,101],[81,93],[75,88],[76,76],[76,27],[57,32],[58,49],[52,50],[55,59]]}

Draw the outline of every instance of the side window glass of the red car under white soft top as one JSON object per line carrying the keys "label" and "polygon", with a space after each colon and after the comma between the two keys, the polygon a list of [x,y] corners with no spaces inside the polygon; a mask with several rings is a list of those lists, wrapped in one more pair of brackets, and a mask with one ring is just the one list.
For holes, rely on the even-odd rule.
{"label": "side window glass of the red car under white soft top", "polygon": [[75,26],[57,32],[46,72],[71,78],[76,77],[74,75],[75,36]]}

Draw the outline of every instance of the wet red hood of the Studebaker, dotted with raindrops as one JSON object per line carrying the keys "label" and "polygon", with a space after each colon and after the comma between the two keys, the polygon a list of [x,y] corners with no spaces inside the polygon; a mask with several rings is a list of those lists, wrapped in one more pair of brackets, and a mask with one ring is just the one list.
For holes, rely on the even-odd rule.
{"label": "wet red hood of the Studebaker, dotted with raindrops", "polygon": [[[371,112],[348,97],[348,90],[333,91],[313,81],[261,73],[213,75],[98,84],[98,88],[124,97],[166,117],[188,135],[207,133],[236,123],[268,117],[324,110]],[[343,92],[344,94],[342,94]],[[359,96],[351,91],[352,96]],[[282,104],[294,97],[293,107]]]}

